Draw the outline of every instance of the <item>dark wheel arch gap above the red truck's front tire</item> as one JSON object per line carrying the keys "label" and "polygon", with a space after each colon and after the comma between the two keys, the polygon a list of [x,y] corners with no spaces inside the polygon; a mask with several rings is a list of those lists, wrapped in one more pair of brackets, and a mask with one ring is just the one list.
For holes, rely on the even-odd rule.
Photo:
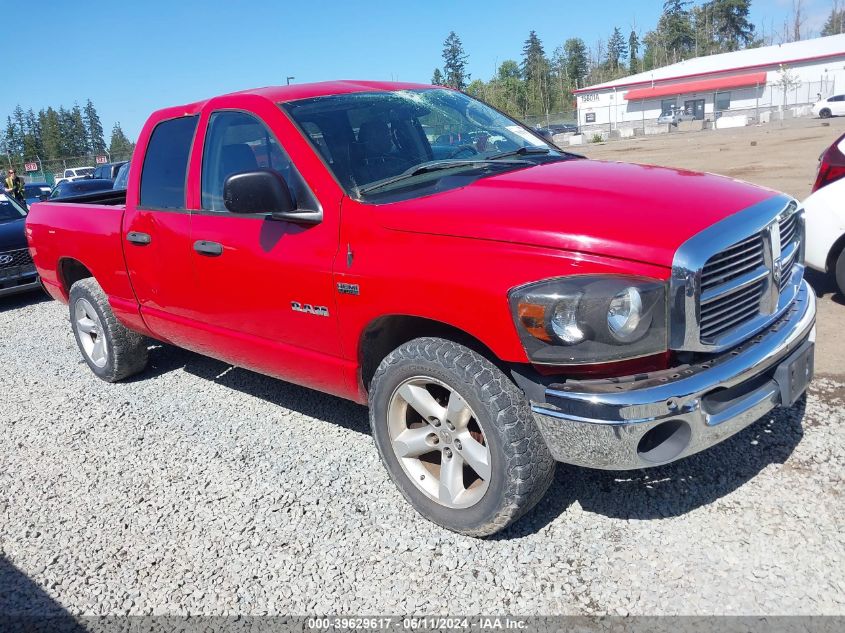
{"label": "dark wheel arch gap above the red truck's front tire", "polygon": [[368,394],[379,364],[394,349],[415,338],[431,336],[468,347],[501,369],[506,363],[483,341],[450,323],[407,314],[390,314],[370,321],[358,339],[359,388]]}

